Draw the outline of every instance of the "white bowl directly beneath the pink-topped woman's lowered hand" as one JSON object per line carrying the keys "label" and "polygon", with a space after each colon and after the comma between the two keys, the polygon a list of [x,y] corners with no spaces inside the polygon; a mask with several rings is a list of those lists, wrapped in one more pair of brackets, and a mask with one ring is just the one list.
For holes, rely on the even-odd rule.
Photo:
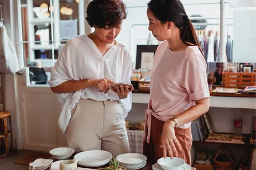
{"label": "white bowl directly beneath the pink-topped woman's lowered hand", "polygon": [[170,157],[163,158],[161,157],[158,160],[158,164],[160,164],[161,168],[164,170],[180,170],[184,169],[185,161],[182,158],[173,157],[171,159]]}

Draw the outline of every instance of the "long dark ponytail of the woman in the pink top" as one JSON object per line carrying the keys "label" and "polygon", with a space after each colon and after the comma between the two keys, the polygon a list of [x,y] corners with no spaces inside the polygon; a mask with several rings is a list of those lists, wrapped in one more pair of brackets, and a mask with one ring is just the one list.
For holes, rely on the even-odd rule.
{"label": "long dark ponytail of the woman in the pink top", "polygon": [[201,51],[203,55],[203,51],[200,47],[199,41],[196,36],[196,31],[194,28],[194,25],[192,24],[191,20],[187,15],[184,15],[182,17],[183,19],[183,24],[181,26],[181,31],[180,31],[180,38],[184,42],[184,44],[189,45],[189,46],[197,46],[198,49]]}

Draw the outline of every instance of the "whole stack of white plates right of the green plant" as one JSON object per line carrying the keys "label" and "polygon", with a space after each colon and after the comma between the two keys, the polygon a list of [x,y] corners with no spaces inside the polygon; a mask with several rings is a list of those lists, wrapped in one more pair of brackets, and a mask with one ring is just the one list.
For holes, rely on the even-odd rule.
{"label": "whole stack of white plates right of the green plant", "polygon": [[117,161],[127,170],[136,170],[147,164],[147,157],[139,153],[124,153],[117,156]]}

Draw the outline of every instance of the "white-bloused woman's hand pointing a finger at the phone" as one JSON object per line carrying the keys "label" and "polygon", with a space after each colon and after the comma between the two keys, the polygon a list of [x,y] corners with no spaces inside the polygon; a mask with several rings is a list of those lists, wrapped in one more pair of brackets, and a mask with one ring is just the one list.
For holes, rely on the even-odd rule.
{"label": "white-bloused woman's hand pointing a finger at the phone", "polygon": [[90,87],[98,88],[100,92],[107,93],[109,91],[109,84],[114,84],[107,78],[102,79],[90,79]]}

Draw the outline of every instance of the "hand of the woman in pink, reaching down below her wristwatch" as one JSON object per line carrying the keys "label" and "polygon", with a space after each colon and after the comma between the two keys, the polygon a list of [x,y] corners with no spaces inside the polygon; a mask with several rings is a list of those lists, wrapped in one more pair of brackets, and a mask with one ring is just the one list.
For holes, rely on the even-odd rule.
{"label": "hand of the woman in pink, reaching down below her wristwatch", "polygon": [[172,120],[168,120],[164,123],[162,135],[161,135],[161,145],[163,147],[163,156],[166,158],[167,151],[169,156],[173,158],[177,157],[177,150],[181,150],[180,142],[175,136],[175,123]]}

